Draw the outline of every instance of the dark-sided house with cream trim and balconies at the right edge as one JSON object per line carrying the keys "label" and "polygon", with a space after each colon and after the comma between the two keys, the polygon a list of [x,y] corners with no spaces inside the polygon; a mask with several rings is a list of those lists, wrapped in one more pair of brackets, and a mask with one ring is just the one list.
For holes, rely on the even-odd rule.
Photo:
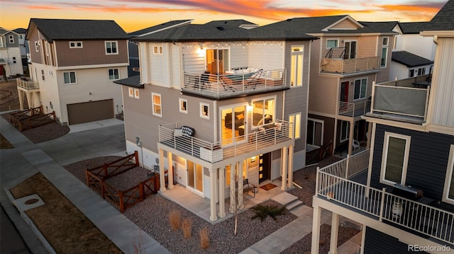
{"label": "dark-sided house with cream trim and balconies at the right edge", "polygon": [[453,13],[450,0],[421,32],[436,42],[431,81],[375,84],[364,117],[370,150],[318,169],[311,253],[319,253],[323,210],[332,217],[330,253],[339,217],[363,225],[361,253],[453,253]]}

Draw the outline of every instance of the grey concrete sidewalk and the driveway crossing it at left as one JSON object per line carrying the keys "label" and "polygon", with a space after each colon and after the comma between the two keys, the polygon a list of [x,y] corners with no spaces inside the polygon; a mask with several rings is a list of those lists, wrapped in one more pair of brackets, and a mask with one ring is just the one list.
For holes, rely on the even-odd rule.
{"label": "grey concrete sidewalk and the driveway crossing it at left", "polygon": [[[169,253],[62,167],[86,158],[126,154],[122,125],[67,134],[41,144],[30,142],[2,117],[0,131],[14,146],[14,149],[0,150],[1,187],[5,192],[40,172],[124,253],[133,253],[133,242],[139,238],[142,238],[144,253]],[[29,247],[35,253],[33,246]],[[36,253],[42,253],[42,250],[36,250]]]}

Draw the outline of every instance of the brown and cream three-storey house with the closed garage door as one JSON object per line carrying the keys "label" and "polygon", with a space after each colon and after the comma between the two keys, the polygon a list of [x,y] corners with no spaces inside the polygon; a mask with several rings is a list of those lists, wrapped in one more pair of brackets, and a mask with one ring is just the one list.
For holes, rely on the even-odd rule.
{"label": "brown and cream three-storey house with the closed garage door", "polygon": [[43,105],[59,122],[74,125],[121,113],[121,89],[128,76],[128,34],[115,21],[32,18],[29,43],[31,81],[18,79],[23,105]]}

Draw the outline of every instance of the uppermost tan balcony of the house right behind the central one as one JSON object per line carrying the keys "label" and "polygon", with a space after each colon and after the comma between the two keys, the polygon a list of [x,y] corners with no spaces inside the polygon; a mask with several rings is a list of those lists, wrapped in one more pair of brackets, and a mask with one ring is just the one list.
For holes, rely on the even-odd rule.
{"label": "uppermost tan balcony of the house right behind the central one", "polygon": [[372,73],[380,69],[380,57],[362,58],[323,58],[321,61],[321,73],[348,74]]}

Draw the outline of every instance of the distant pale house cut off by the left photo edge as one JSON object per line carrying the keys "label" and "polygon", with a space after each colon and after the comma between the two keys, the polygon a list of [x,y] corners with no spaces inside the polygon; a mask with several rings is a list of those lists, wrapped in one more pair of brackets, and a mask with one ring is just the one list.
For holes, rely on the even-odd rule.
{"label": "distant pale house cut off by the left photo edge", "polygon": [[0,28],[0,79],[23,74],[19,35]]}

